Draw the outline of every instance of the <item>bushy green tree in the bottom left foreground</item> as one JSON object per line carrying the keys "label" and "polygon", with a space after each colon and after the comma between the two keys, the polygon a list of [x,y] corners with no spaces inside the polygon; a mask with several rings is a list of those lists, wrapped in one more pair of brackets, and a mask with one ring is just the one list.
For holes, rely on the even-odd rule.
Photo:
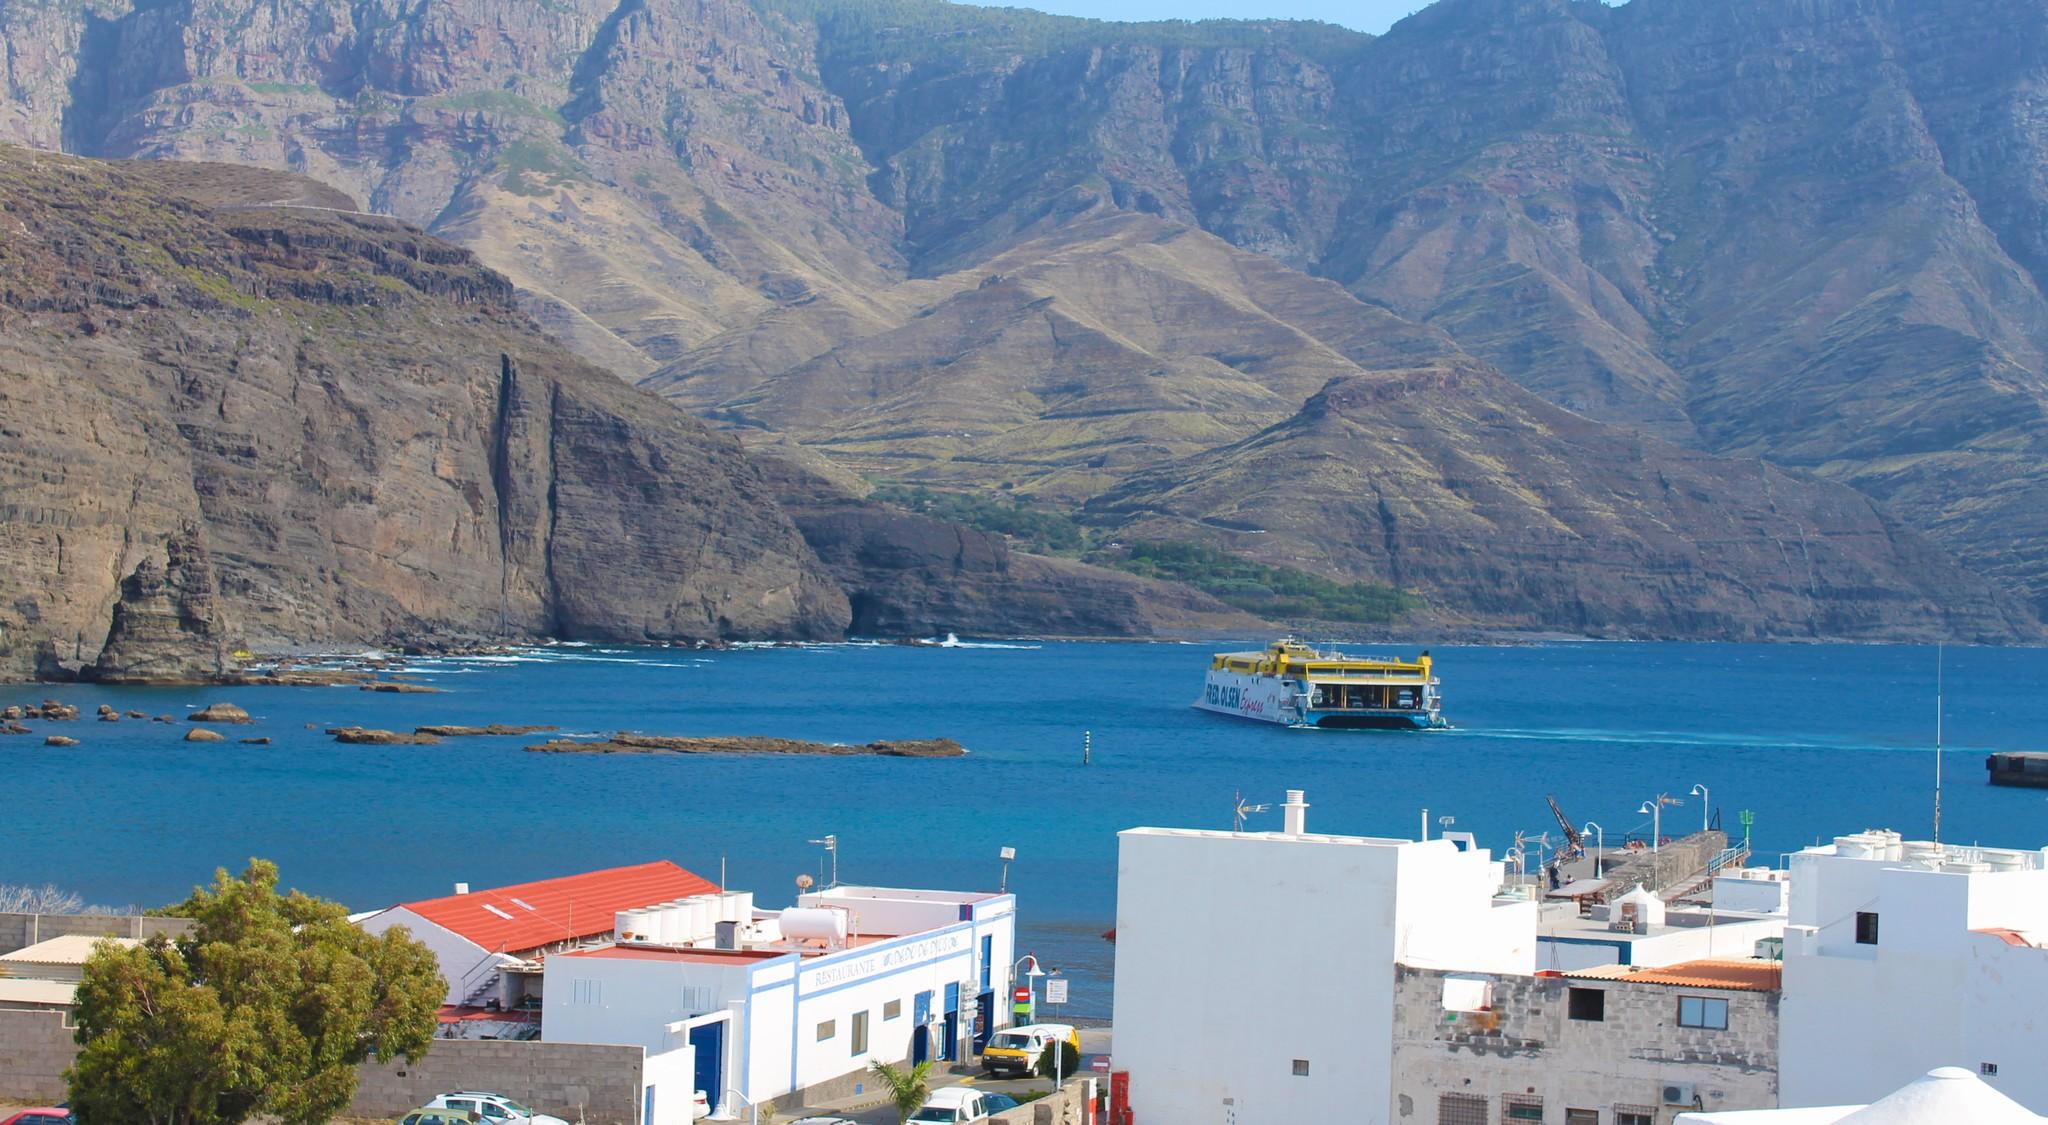
{"label": "bushy green tree in the bottom left foreground", "polygon": [[356,1064],[434,1041],[434,953],[401,928],[358,930],[340,904],[281,895],[272,863],[217,871],[170,914],[193,932],[86,961],[66,1072],[80,1121],[315,1125],[348,1109]]}

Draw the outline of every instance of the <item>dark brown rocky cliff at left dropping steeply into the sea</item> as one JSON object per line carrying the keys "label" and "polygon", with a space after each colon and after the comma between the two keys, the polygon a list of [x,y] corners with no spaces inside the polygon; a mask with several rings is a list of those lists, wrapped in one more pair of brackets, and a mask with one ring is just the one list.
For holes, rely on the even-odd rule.
{"label": "dark brown rocky cliff at left dropping steeply into the sea", "polygon": [[301,191],[0,145],[0,672],[840,635],[844,594],[731,439],[561,350],[465,250],[242,203]]}

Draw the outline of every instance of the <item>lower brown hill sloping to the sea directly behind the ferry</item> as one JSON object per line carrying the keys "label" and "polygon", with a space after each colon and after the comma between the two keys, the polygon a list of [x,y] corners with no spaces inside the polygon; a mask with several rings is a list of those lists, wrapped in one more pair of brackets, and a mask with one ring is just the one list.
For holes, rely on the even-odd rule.
{"label": "lower brown hill sloping to the sea directly behind the ferry", "polygon": [[1255,533],[1268,557],[1491,625],[2038,635],[2015,596],[1847,486],[1593,422],[1479,363],[1333,379],[1286,422],[1137,473],[1087,514],[1141,539]]}

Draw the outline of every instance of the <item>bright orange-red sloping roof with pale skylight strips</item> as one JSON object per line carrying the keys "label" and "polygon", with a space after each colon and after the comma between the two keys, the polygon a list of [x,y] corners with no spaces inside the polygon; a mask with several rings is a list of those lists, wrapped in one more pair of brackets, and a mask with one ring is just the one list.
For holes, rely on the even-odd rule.
{"label": "bright orange-red sloping roof with pale skylight strips", "polygon": [[621,910],[717,891],[717,883],[664,859],[399,906],[492,953],[524,953],[608,934]]}

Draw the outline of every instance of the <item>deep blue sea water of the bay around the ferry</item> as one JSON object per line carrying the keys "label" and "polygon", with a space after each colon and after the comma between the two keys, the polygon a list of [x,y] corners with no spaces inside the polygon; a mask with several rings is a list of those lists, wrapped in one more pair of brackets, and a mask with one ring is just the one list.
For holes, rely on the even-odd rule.
{"label": "deep blue sea water of the bay around the ferry", "polygon": [[[1255,648],[1262,639],[1247,637]],[[18,684],[0,701],[78,703],[78,723],[0,738],[0,883],[164,904],[215,867],[266,857],[352,910],[592,867],[674,859],[782,906],[840,838],[840,879],[987,887],[1014,846],[1020,943],[1073,980],[1067,1014],[1110,1008],[1116,832],[1229,828],[1241,793],[1307,789],[1315,832],[1413,836],[1421,809],[1497,852],[1550,832],[1544,795],[1608,844],[1681,797],[1755,814],[1759,861],[1888,826],[1925,836],[1935,773],[1935,650],[1880,645],[1548,643],[1436,648],[1456,730],[1288,732],[1194,711],[1210,648],[1044,643],[813,645],[731,652],[549,645],[420,660],[440,695],[354,689]],[[1352,645],[1372,652],[1368,645]],[[1946,654],[1944,836],[2048,844],[2048,791],[1991,789],[1989,750],[2048,750],[2048,650]],[[98,703],[184,715],[270,746],[184,744],[176,727],[96,723]],[[526,754],[530,738],[340,746],[317,727],[557,723],[563,732],[770,734],[829,742],[946,736],[967,758]],[[45,748],[41,734],[82,738]],[[1081,764],[1083,732],[1094,764]],[[1690,795],[1710,791],[1710,809]],[[1249,828],[1278,828],[1278,807]],[[1739,828],[1737,828],[1739,832]],[[1190,918],[1229,910],[1190,902]]]}

